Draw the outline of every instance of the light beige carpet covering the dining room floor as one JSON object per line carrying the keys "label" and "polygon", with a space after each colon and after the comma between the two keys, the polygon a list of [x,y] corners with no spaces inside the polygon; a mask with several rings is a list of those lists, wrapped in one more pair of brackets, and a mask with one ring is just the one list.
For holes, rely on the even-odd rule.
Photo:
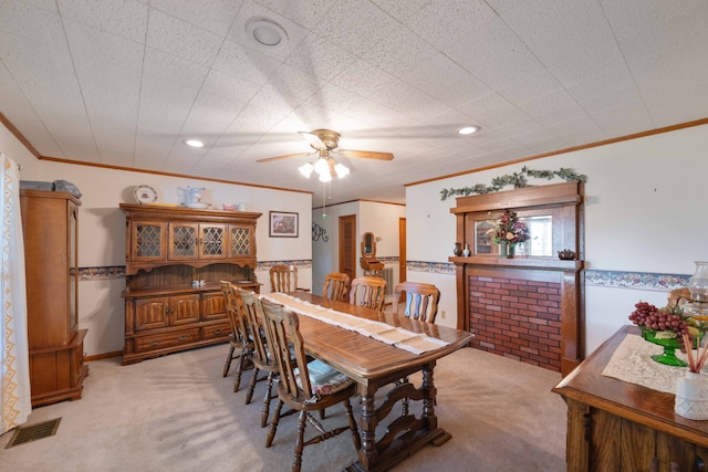
{"label": "light beige carpet covering the dining room floor", "polygon": [[[30,416],[28,424],[61,417],[54,437],[10,449],[4,447],[12,431],[0,437],[0,470],[290,470],[296,418],[283,418],[266,449],[264,382],[243,405],[244,388],[232,392],[233,367],[221,377],[227,349],[212,346],[131,366],[121,366],[118,358],[88,363],[81,400],[41,407]],[[393,470],[565,470],[565,403],[551,392],[560,379],[560,374],[472,348],[441,359],[435,370],[436,412],[452,439],[426,445]],[[345,422],[343,410],[327,410],[326,422]],[[309,427],[305,437],[312,432]],[[339,471],[355,460],[345,432],[305,448],[303,471]]]}

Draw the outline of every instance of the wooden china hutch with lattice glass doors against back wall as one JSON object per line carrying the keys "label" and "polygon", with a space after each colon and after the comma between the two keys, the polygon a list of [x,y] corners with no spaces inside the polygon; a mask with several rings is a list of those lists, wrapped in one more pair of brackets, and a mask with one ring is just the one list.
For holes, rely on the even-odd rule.
{"label": "wooden china hutch with lattice glass doors against back wall", "polygon": [[260,291],[254,270],[261,213],[128,203],[121,209],[126,216],[123,364],[228,340],[219,282]]}

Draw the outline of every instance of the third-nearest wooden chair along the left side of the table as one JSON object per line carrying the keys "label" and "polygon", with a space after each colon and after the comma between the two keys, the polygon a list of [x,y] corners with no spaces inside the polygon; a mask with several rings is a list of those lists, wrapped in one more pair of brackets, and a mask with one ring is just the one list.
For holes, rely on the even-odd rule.
{"label": "third-nearest wooden chair along the left side of the table", "polygon": [[223,377],[228,375],[231,361],[238,358],[239,361],[236,365],[236,380],[233,380],[233,391],[236,392],[239,391],[239,387],[241,385],[241,374],[243,374],[243,368],[252,361],[253,343],[249,338],[243,314],[238,305],[236,287],[228,281],[220,281],[219,285],[221,286],[226,313],[231,325],[229,354],[226,359],[226,365],[223,366]]}

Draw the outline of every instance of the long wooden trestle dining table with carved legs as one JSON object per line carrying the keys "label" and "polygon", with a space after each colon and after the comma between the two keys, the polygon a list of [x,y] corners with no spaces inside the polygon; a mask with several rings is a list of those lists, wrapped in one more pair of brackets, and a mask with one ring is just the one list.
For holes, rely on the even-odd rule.
{"label": "long wooden trestle dining table with carved legs", "polygon": [[[438,418],[435,415],[437,388],[433,374],[439,358],[470,343],[473,337],[471,333],[345,302],[330,301],[311,293],[293,292],[288,295],[340,313],[383,322],[393,327],[447,343],[433,350],[414,354],[357,332],[310,316],[299,316],[300,332],[308,353],[346,374],[358,386],[362,401],[360,419],[362,448],[358,451],[358,461],[346,470],[387,470],[427,443],[440,445],[450,439],[450,434],[438,426]],[[288,306],[287,300],[282,297],[278,302]],[[414,386],[413,382],[399,381],[418,371],[421,373],[419,387]],[[382,395],[383,399],[379,399],[379,405],[376,406],[376,394],[383,387],[389,387],[389,389]],[[421,402],[420,415],[402,416],[400,409],[394,406],[403,399],[408,399],[409,402]],[[388,417],[393,418],[386,423],[383,436],[376,440],[377,426],[383,424]]]}

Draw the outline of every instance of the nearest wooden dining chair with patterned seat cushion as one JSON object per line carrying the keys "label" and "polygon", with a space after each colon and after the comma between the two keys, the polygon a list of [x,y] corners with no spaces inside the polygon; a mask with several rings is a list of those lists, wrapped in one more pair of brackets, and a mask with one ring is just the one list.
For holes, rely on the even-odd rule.
{"label": "nearest wooden dining chair with patterned seat cushion", "polygon": [[[293,411],[300,412],[298,439],[292,460],[293,472],[300,471],[302,466],[304,447],[333,438],[347,429],[352,432],[354,447],[358,451],[362,442],[350,402],[350,398],[356,395],[354,380],[322,360],[315,359],[308,363],[295,313],[283,305],[267,300],[261,301],[261,306],[266,315],[266,329],[270,331],[273,343],[272,353],[275,356],[280,374],[278,405],[271,418],[266,447],[270,448],[273,443],[281,409],[283,405],[287,405]],[[294,354],[294,364],[291,361],[291,353]],[[348,424],[326,430],[312,413],[322,412],[325,408],[339,403],[344,406]],[[304,432],[308,423],[312,424],[319,434],[305,441]]]}

